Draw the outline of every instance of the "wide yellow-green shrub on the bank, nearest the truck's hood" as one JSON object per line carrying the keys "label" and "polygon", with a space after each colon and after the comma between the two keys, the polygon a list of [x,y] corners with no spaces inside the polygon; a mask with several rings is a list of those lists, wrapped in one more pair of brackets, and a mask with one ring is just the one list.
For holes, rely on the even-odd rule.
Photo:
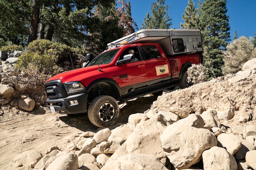
{"label": "wide yellow-green shrub on the bank, nearest the truck's hood", "polygon": [[19,56],[16,68],[21,71],[26,71],[29,66],[33,65],[38,68],[38,71],[44,74],[56,75],[59,68],[56,65],[58,57],[47,53],[40,54],[39,52],[32,53],[26,51]]}

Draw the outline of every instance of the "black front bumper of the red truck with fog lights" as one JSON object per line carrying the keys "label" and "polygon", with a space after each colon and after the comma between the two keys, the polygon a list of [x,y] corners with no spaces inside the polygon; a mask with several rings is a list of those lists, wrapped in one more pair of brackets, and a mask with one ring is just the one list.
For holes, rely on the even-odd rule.
{"label": "black front bumper of the red truck with fog lights", "polygon": [[[88,93],[81,93],[68,96],[60,99],[47,99],[48,108],[54,107],[55,111],[60,114],[76,114],[87,111],[87,96]],[[70,104],[69,101],[77,100],[77,104]]]}

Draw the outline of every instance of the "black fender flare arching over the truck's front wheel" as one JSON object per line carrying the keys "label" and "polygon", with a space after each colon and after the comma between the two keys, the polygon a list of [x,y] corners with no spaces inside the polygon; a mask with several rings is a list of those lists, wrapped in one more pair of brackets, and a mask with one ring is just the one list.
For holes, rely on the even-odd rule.
{"label": "black fender flare arching over the truck's front wheel", "polygon": [[110,78],[100,78],[100,79],[97,79],[97,80],[93,80],[86,87],[86,92],[89,92],[94,85],[96,85],[98,83],[101,83],[101,82],[108,83],[108,84],[112,85],[113,86],[113,90],[116,93],[116,96],[117,96],[118,100],[120,101],[122,99],[122,91],[121,91],[120,86],[118,85],[118,83],[115,80],[110,79]]}

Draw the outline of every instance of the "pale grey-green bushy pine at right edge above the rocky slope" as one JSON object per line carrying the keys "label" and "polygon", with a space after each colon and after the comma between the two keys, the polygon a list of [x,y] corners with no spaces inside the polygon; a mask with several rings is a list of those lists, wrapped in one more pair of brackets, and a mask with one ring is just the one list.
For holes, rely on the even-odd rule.
{"label": "pale grey-green bushy pine at right edge above the rocky slope", "polygon": [[253,38],[248,39],[245,36],[227,45],[227,50],[224,52],[224,67],[223,74],[234,74],[242,70],[245,62],[256,57],[256,48],[252,43]]}

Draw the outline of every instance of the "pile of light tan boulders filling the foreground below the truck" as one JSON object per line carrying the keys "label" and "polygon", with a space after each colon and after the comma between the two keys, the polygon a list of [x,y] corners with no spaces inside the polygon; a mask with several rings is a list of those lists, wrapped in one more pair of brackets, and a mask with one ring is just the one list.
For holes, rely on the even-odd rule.
{"label": "pile of light tan boulders filling the foreground below the truck", "polygon": [[[22,152],[13,163],[62,170],[256,169],[256,126],[235,127],[229,132],[212,109],[206,111],[207,117],[192,113],[178,121],[170,120],[171,112],[154,113],[150,119],[148,113],[130,115],[127,124],[116,128],[67,136],[67,147],[62,149],[66,151],[55,146],[43,157],[33,150]],[[175,112],[177,116],[183,113]]]}

